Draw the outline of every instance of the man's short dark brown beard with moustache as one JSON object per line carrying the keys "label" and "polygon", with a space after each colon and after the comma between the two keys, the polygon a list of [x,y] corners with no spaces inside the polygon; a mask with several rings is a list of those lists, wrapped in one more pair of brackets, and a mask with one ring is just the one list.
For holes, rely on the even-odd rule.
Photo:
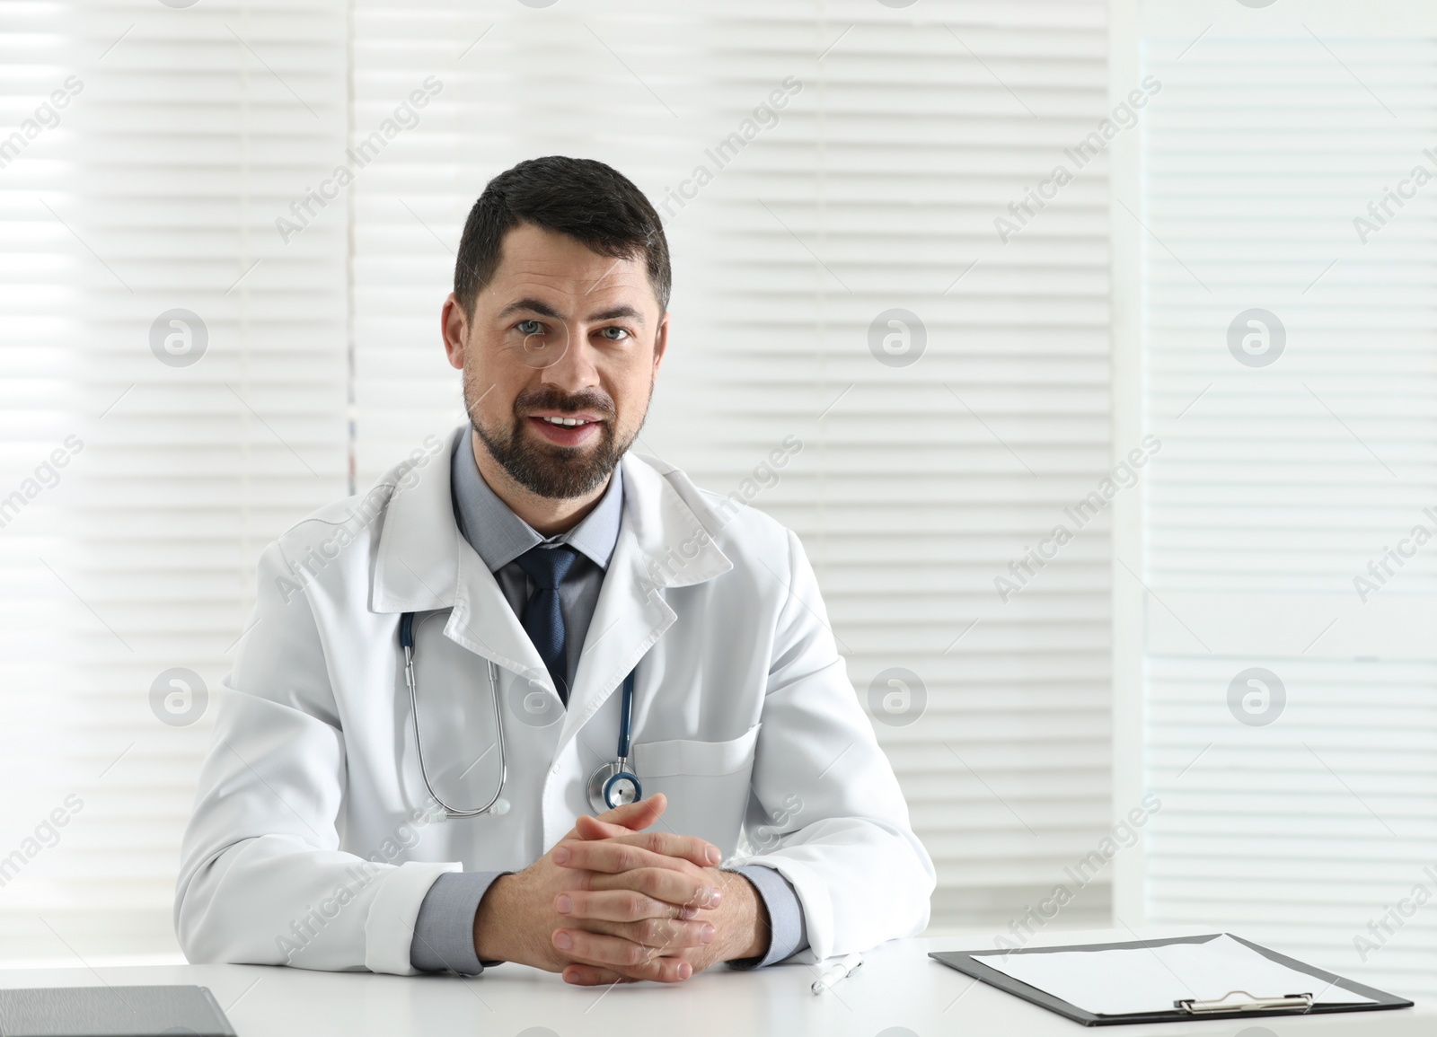
{"label": "man's short dark brown beard with moustache", "polygon": [[[650,385],[652,396],[654,386]],[[632,435],[618,438],[615,425],[618,411],[614,399],[602,389],[585,389],[583,392],[568,394],[552,385],[537,389],[525,389],[514,398],[513,419],[507,429],[490,429],[483,425],[479,414],[479,402],[473,385],[464,379],[464,408],[468,411],[468,421],[474,427],[480,442],[489,454],[499,462],[509,477],[525,490],[539,497],[552,500],[569,500],[583,497],[601,485],[614,474],[619,458],[628,452],[634,440],[638,438],[639,428]],[[604,418],[599,429],[599,440],[583,447],[560,447],[553,442],[539,441],[525,429],[529,421],[525,414],[532,411],[589,411]],[[645,408],[647,417],[647,408]]]}

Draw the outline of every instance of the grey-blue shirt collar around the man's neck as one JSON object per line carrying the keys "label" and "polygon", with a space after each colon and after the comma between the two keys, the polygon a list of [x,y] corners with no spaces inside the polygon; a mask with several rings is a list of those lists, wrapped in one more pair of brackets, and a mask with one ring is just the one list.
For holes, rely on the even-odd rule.
{"label": "grey-blue shirt collar around the man's neck", "polygon": [[466,429],[454,444],[450,485],[458,530],[491,573],[539,544],[569,544],[599,569],[609,567],[624,517],[622,465],[614,467],[608,490],[583,521],[552,537],[540,536],[533,526],[516,516],[479,474],[471,429]]}

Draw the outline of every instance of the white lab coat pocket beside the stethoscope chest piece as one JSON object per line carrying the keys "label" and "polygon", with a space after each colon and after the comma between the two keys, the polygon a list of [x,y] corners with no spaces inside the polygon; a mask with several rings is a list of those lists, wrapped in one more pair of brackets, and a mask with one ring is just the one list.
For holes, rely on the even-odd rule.
{"label": "white lab coat pocket beside the stethoscope chest piece", "polygon": [[634,743],[634,770],[644,783],[644,794],[668,797],[657,827],[700,836],[723,850],[724,859],[733,856],[749,803],[760,727],[754,724],[730,741]]}

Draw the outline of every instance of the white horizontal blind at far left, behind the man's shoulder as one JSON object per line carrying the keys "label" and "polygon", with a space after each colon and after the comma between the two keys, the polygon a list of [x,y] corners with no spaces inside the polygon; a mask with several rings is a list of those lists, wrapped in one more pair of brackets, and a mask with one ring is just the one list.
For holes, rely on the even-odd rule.
{"label": "white horizontal blind at far left, behind the man's shoulder", "polygon": [[345,490],[343,213],[274,223],[343,152],[343,42],[341,0],[0,4],[6,958],[177,949],[254,563]]}

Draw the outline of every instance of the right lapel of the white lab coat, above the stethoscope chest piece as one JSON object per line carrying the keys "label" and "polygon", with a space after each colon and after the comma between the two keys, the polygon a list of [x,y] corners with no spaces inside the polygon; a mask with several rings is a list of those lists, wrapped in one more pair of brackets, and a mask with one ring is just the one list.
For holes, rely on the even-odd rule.
{"label": "right lapel of the white lab coat, above the stethoscope chest piece", "polygon": [[[733,569],[670,475],[683,480],[698,504],[697,490],[673,468],[652,458],[624,458],[624,520],[579,656],[560,751],[673,625],[677,613],[664,590]],[[700,510],[711,516],[707,507]]]}

